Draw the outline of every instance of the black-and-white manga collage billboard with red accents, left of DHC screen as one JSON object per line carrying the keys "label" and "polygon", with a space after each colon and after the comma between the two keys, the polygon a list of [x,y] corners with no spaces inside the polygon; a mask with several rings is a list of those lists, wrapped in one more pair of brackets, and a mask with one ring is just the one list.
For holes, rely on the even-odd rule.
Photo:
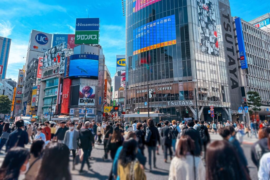
{"label": "black-and-white manga collage billboard with red accents, left of DHC screen", "polygon": [[54,46],[44,51],[44,60],[42,69],[60,63],[60,60],[65,59],[64,43]]}

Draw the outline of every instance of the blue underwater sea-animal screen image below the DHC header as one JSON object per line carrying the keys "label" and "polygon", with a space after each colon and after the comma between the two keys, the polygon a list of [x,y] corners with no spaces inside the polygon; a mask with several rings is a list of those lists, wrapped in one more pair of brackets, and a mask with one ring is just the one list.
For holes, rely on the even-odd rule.
{"label": "blue underwater sea-animal screen image below the DHC header", "polygon": [[69,77],[98,78],[99,61],[93,59],[70,60]]}

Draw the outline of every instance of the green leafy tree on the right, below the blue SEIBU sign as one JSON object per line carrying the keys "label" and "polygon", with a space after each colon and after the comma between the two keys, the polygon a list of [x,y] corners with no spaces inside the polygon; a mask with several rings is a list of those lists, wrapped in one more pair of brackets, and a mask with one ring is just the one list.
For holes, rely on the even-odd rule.
{"label": "green leafy tree on the right, below the blue SEIBU sign", "polygon": [[258,92],[255,91],[248,91],[247,92],[248,95],[248,112],[249,114],[252,114],[253,112],[255,113],[255,120],[257,119],[257,111],[261,110],[261,106],[262,106],[262,99],[261,96]]}

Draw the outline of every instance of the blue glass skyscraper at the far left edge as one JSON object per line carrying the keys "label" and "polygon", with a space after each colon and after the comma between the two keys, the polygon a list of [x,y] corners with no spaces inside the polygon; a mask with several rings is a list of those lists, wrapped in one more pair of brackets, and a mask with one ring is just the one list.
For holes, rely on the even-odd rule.
{"label": "blue glass skyscraper at the far left edge", "polygon": [[6,78],[6,68],[8,67],[8,56],[11,39],[0,36],[0,65],[3,65],[1,79]]}

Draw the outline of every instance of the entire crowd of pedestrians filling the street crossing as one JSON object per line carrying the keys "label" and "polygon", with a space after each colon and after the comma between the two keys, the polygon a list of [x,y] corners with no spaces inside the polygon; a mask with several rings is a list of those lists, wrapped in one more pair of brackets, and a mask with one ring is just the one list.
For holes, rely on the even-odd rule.
{"label": "entire crowd of pedestrians filling the street crossing", "polygon": [[[72,154],[72,169],[81,163],[79,173],[83,174],[85,164],[87,169],[91,168],[89,159],[92,159],[95,143],[103,143],[103,161],[111,159],[113,162],[108,179],[146,179],[144,169],[152,172],[153,168],[158,168],[156,155],[161,152],[164,162],[170,163],[169,179],[251,179],[241,147],[241,137],[246,134],[249,137],[258,134],[259,139],[251,148],[251,158],[258,168],[259,179],[269,179],[270,128],[267,122],[248,125],[230,121],[166,120],[155,124],[149,118],[131,124],[133,131],[125,134],[129,123],[120,121],[61,121],[57,124],[45,121],[25,125],[21,119],[12,126],[0,121],[0,150],[5,146],[6,152],[0,180],[18,179],[20,175],[26,180],[71,179],[69,155]],[[250,135],[246,133],[249,130]],[[219,133],[223,140],[210,143],[211,133]],[[24,148],[28,143],[30,151]]]}

